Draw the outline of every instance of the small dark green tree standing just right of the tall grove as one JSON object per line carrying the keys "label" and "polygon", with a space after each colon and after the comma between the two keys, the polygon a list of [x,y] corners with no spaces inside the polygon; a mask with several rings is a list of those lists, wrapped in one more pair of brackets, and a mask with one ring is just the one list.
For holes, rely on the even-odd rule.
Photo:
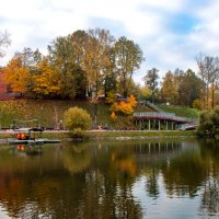
{"label": "small dark green tree standing just right of the tall grove", "polygon": [[154,94],[155,91],[158,90],[158,76],[159,70],[155,68],[152,68],[147,71],[147,74],[143,77],[143,81],[146,87],[148,87],[151,91],[151,102],[153,103],[154,101]]}

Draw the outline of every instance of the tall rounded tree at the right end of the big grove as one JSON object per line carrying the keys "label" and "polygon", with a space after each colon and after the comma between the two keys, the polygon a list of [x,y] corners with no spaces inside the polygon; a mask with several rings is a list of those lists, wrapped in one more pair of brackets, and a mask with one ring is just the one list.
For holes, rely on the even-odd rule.
{"label": "tall rounded tree at the right end of the big grove", "polygon": [[138,44],[120,37],[115,44],[115,60],[120,78],[122,92],[124,97],[128,95],[128,81],[131,81],[132,73],[140,68],[143,61],[143,54]]}

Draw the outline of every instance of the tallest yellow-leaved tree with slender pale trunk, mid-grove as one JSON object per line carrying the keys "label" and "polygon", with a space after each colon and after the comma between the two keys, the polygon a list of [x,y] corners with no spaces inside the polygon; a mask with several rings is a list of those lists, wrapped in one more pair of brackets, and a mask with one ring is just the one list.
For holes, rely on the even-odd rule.
{"label": "tallest yellow-leaved tree with slender pale trunk, mid-grove", "polygon": [[94,104],[94,123],[97,124],[97,97],[103,85],[104,74],[111,66],[108,53],[113,43],[113,37],[105,30],[89,30],[88,47],[84,55],[84,71],[89,90],[92,93],[91,100]]}

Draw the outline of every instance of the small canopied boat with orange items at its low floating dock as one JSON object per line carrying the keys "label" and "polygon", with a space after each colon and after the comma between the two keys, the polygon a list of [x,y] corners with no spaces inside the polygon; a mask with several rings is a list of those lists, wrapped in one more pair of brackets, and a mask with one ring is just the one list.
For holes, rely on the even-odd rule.
{"label": "small canopied boat with orange items at its low floating dock", "polygon": [[58,139],[42,138],[42,128],[19,128],[15,129],[15,138],[9,138],[10,145],[41,145],[41,143],[59,143]]}

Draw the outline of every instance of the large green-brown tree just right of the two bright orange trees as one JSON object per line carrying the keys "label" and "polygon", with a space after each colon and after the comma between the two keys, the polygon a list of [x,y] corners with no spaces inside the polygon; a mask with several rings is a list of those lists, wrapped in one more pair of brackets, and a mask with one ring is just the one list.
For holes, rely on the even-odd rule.
{"label": "large green-brown tree just right of the two bright orange trees", "polygon": [[82,55],[77,55],[73,36],[57,37],[48,46],[48,53],[50,65],[60,74],[61,97],[74,99],[79,90],[85,93],[82,92],[85,90],[84,71],[78,64]]}

